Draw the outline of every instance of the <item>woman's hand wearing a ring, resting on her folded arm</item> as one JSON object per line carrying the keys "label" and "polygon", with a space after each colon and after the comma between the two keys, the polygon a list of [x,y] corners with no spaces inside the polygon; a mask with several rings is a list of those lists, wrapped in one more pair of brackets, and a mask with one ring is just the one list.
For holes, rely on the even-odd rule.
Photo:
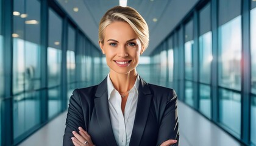
{"label": "woman's hand wearing a ring, resting on her folded arm", "polygon": [[75,137],[71,137],[72,142],[75,146],[94,146],[93,142],[91,141],[91,136],[85,131],[82,127],[79,127],[79,133],[73,131]]}

